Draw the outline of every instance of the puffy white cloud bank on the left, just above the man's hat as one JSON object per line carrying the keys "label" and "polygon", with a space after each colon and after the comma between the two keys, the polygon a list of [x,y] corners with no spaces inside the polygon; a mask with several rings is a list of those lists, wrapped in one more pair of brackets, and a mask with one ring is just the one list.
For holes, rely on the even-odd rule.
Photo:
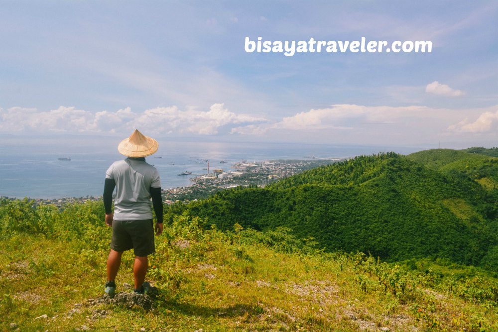
{"label": "puffy white cloud bank on the left, just above the man's hat", "polygon": [[264,121],[266,119],[262,117],[231,112],[224,104],[214,104],[209,111],[181,111],[176,106],[143,112],[126,108],[95,113],[63,106],[51,111],[19,107],[0,109],[0,132],[127,133],[140,128],[156,134],[213,135],[224,126]]}

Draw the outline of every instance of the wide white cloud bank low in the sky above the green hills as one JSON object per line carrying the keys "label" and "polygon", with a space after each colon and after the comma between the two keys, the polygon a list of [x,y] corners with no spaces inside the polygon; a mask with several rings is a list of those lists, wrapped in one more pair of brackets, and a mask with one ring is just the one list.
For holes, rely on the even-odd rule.
{"label": "wide white cloud bank low in the sky above the green hills", "polygon": [[[251,123],[232,128],[232,134],[261,136],[282,141],[329,141],[345,144],[422,144],[440,139],[470,141],[473,132],[498,127],[498,112],[486,109],[434,109],[424,106],[332,105],[298,112],[273,123]],[[476,122],[461,122],[466,116]],[[479,116],[479,114],[482,114]],[[465,133],[465,134],[463,134]],[[491,137],[491,136],[490,136]]]}

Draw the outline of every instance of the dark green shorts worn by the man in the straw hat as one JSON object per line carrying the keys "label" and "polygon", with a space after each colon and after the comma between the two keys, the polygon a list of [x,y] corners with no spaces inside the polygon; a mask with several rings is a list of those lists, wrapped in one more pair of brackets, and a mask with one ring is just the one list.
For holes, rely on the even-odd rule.
{"label": "dark green shorts worn by the man in the straw hat", "polygon": [[113,220],[111,249],[125,251],[131,248],[138,257],[145,257],[155,252],[152,219]]}

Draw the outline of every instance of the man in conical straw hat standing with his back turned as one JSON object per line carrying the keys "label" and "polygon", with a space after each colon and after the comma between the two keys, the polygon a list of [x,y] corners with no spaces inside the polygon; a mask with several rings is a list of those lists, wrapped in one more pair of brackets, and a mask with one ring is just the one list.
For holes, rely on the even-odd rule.
{"label": "man in conical straw hat standing with his back turned", "polygon": [[[162,198],[159,172],[145,162],[146,156],[157,151],[157,141],[135,130],[121,141],[118,151],[127,158],[116,161],[106,172],[104,207],[106,224],[113,227],[111,252],[107,259],[107,283],[105,292],[114,297],[116,275],[125,250],[133,248],[134,292],[145,294],[150,287],[144,282],[147,273],[147,256],[155,252],[154,226],[150,199],[157,218],[156,235],[162,233]],[[114,213],[113,192],[116,188]]]}

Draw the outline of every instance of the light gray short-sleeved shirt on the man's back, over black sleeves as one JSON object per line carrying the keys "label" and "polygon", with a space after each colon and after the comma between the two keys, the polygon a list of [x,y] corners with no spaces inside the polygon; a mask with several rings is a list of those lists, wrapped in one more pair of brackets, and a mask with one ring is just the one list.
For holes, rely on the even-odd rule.
{"label": "light gray short-sleeved shirt on the man's back, over black sleeves", "polygon": [[152,219],[150,187],[161,187],[159,172],[154,166],[126,158],[109,167],[106,179],[116,182],[114,219]]}

